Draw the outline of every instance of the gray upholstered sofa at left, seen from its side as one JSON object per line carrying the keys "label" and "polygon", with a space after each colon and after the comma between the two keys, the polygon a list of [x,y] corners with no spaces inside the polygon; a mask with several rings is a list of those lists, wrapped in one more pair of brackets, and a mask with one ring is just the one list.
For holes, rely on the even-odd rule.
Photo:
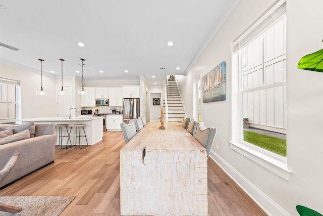
{"label": "gray upholstered sofa at left, seen from its side", "polygon": [[[0,144],[0,169],[6,165],[15,152],[20,153],[15,167],[5,181],[0,184],[0,188],[54,161],[57,140],[57,135],[54,134],[55,124],[34,122],[0,124],[0,133],[13,128],[13,135],[15,135],[20,131],[25,131],[26,127],[30,132],[30,137],[27,139]],[[2,138],[0,142],[8,138]]]}

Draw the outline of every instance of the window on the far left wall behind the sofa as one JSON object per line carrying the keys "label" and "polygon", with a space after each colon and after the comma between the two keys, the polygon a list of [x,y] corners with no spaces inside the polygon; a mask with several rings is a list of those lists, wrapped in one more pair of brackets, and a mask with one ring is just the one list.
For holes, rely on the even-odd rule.
{"label": "window on the far left wall behind the sofa", "polygon": [[18,117],[19,81],[0,78],[0,122]]}

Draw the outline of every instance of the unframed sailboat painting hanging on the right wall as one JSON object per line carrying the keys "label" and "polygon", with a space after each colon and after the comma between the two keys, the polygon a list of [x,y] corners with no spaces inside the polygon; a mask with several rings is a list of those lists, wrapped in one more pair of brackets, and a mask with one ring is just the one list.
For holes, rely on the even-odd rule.
{"label": "unframed sailboat painting hanging on the right wall", "polygon": [[226,100],[226,62],[203,76],[203,103]]}

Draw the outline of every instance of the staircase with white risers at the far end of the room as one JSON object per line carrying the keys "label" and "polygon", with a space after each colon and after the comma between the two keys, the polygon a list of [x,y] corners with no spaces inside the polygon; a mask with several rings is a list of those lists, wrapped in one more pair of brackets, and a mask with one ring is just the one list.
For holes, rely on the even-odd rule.
{"label": "staircase with white risers at the far end of the room", "polygon": [[[168,81],[168,121],[182,122],[183,116],[186,117],[182,98],[178,90],[176,81]],[[166,115],[165,101],[163,101],[164,114]]]}

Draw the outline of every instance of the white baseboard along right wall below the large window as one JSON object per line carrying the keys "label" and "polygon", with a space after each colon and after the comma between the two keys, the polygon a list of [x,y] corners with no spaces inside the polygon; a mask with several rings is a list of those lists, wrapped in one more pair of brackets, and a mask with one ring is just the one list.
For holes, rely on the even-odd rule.
{"label": "white baseboard along right wall below the large window", "polygon": [[220,157],[216,152],[210,150],[209,156],[214,160],[233,181],[235,181],[242,190],[244,190],[268,215],[287,216],[291,215],[282,209],[276,202],[270,199],[266,194],[260,191],[248,179],[240,174],[227,161]]}

